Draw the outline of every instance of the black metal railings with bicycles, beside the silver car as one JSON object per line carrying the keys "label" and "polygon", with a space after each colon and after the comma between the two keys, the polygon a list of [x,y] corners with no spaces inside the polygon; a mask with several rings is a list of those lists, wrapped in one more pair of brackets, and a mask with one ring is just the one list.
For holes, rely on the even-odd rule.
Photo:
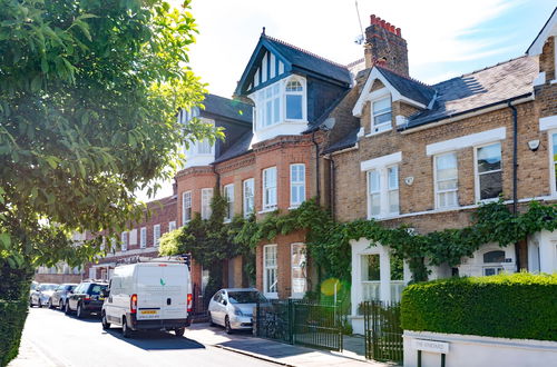
{"label": "black metal railings with bicycles, beside the silver car", "polygon": [[292,345],[341,351],[341,325],[336,305],[289,299],[256,308],[256,335]]}

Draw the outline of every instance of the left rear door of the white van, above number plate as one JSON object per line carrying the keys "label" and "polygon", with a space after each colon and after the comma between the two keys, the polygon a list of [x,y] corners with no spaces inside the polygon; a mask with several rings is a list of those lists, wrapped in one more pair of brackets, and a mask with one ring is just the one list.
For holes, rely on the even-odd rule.
{"label": "left rear door of the white van, above number plate", "polygon": [[164,267],[158,264],[141,264],[136,268],[137,319],[163,318]]}

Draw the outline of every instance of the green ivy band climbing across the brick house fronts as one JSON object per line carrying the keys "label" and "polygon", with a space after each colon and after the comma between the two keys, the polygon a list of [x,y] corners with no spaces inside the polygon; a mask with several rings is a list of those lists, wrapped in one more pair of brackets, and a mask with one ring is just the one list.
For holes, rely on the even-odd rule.
{"label": "green ivy band climbing across the brick house fronts", "polygon": [[[224,200],[217,197],[215,199]],[[222,204],[214,202],[215,207],[218,205]],[[538,201],[531,201],[525,212],[516,216],[502,200],[485,204],[472,212],[472,225],[426,235],[413,234],[409,225],[389,228],[373,219],[338,222],[313,199],[284,215],[274,211],[260,220],[255,220],[254,217],[248,219],[236,217],[232,224],[223,225],[225,205],[224,201],[223,211],[218,217],[212,216],[212,219],[206,221],[197,217],[187,227],[183,227],[177,246],[182,246],[180,249],[195,249],[201,261],[207,257],[212,258],[215,252],[221,254],[217,258],[224,259],[231,258],[233,254],[253,254],[257,244],[262,240],[273,241],[277,235],[305,230],[309,255],[323,276],[346,281],[351,279],[350,240],[367,238],[372,244],[390,247],[395,259],[404,259],[409,264],[412,281],[424,281],[428,280],[428,265],[448,264],[455,267],[460,265],[463,257],[470,257],[483,244],[497,242],[506,247],[540,230],[557,229],[557,205],[543,205]],[[218,208],[214,209],[213,215],[215,216],[217,211]],[[198,226],[204,229],[196,231]],[[203,236],[206,239],[203,239]],[[205,242],[207,244],[202,245]],[[164,247],[163,241],[162,250]],[[225,254],[228,254],[228,257]],[[199,261],[193,250],[192,255]]]}

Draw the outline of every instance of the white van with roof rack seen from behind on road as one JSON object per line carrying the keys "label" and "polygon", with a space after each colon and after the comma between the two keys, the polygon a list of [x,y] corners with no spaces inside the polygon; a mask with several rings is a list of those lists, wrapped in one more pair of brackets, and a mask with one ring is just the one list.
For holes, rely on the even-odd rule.
{"label": "white van with roof rack seen from behind on road", "polygon": [[183,336],[192,323],[192,279],[179,261],[149,261],[117,266],[102,304],[102,328],[121,325],[133,330],[174,330]]}

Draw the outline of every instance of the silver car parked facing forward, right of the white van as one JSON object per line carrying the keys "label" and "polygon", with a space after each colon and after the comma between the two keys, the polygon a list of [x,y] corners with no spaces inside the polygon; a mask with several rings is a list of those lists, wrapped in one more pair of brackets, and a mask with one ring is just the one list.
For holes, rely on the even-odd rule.
{"label": "silver car parked facing forward, right of the white van", "polygon": [[255,288],[226,288],[217,291],[209,301],[211,324],[224,326],[227,334],[253,327],[253,309],[257,302],[266,302]]}

